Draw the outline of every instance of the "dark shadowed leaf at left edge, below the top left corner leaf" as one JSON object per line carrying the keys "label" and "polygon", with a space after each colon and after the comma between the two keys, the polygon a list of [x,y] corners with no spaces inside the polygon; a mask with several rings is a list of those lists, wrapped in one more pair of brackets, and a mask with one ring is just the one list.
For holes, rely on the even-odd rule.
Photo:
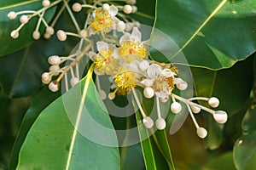
{"label": "dark shadowed leaf at left edge, below the top left corner leaf", "polygon": [[[74,28],[70,22],[67,12],[64,12],[56,29],[66,26],[72,31]],[[49,56],[70,54],[77,42],[77,39],[60,42],[55,36],[49,40],[41,38],[18,52],[0,58],[0,87],[3,94],[18,98],[38,93],[42,88],[41,75],[49,71]]]}

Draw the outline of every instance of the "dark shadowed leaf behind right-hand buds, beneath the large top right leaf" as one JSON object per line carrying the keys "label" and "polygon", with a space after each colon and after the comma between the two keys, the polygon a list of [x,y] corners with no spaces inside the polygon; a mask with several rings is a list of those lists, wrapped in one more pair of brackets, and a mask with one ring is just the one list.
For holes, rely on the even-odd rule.
{"label": "dark shadowed leaf behind right-hand buds, beneath the large top right leaf", "polygon": [[[236,63],[227,70],[210,71],[202,68],[192,68],[196,96],[218,97],[220,105],[215,110],[227,111],[232,116],[249,98],[253,84],[253,57]],[[246,75],[246,76],[245,76]],[[234,95],[236,94],[236,98]],[[232,102],[230,102],[232,101]],[[208,113],[206,113],[208,114]],[[207,126],[210,134],[207,137],[207,147],[218,148],[222,142],[222,126],[207,115]]]}

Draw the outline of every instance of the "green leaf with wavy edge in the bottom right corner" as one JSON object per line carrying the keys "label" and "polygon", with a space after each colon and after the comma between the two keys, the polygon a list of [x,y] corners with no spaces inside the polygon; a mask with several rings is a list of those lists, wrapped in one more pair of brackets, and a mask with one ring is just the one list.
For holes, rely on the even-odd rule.
{"label": "green leaf with wavy edge in the bottom right corner", "polygon": [[237,169],[253,169],[256,164],[256,109],[247,111],[242,121],[243,133],[234,145],[234,162]]}

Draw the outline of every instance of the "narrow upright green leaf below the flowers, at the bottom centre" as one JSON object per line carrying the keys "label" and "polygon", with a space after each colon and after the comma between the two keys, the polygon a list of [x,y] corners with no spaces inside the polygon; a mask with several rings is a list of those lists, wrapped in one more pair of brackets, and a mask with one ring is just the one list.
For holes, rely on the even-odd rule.
{"label": "narrow upright green leaf below the flowers, at the bottom centre", "polygon": [[[144,109],[147,112],[151,112],[152,115],[150,116],[152,116],[153,119],[156,119],[156,106],[152,103],[152,100],[148,100],[148,102],[144,103]],[[137,108],[137,104],[134,103],[134,105],[135,108]],[[161,106],[163,107],[160,108],[160,111],[163,114],[166,113],[166,104]],[[139,111],[136,111],[136,118],[147,170],[175,169],[166,137],[166,130],[156,131],[156,127],[152,129],[144,127],[143,117]]]}

